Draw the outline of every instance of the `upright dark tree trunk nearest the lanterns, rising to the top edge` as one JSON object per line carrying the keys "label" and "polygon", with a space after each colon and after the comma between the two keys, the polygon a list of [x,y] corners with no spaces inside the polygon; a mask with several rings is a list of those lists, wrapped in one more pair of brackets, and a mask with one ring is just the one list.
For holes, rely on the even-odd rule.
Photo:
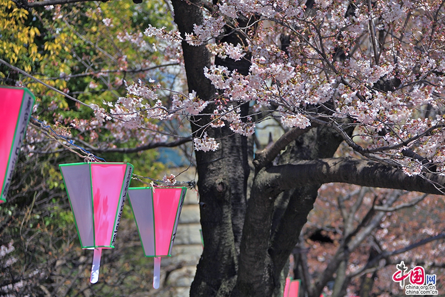
{"label": "upright dark tree trunk nearest the lanterns, rising to the top edge", "polygon": [[[184,36],[194,24],[202,23],[202,11],[196,1],[172,1],[175,22]],[[210,68],[210,56],[205,46],[192,47],[182,43],[189,90],[200,99],[215,97],[216,90],[204,76],[204,66]],[[211,106],[203,113],[212,113]],[[247,110],[246,110],[247,112]],[[208,116],[192,119],[192,131],[197,136],[200,128],[210,122]],[[198,189],[201,204],[201,225],[204,250],[197,266],[190,296],[229,296],[236,281],[239,243],[246,210],[247,138],[234,134],[228,127],[206,129],[209,137],[218,139],[215,151],[196,152]]]}

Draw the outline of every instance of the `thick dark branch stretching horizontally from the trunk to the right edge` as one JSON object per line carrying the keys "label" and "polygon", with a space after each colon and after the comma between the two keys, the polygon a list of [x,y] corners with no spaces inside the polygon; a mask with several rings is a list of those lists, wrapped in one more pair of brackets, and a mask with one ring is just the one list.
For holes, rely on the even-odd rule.
{"label": "thick dark branch stretching horizontally from the trunk to the right edge", "polygon": [[444,195],[445,177],[424,173],[408,176],[400,168],[374,161],[353,158],[305,160],[263,168],[260,172],[265,195],[273,197],[282,191],[325,183],[348,183],[358,186],[400,189]]}

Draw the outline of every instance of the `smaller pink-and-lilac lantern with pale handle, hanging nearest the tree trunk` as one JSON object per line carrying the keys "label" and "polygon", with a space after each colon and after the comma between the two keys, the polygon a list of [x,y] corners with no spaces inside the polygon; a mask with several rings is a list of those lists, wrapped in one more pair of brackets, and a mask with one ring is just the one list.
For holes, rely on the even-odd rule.
{"label": "smaller pink-and-lilac lantern with pale handle, hanging nearest the tree trunk", "polygon": [[153,288],[160,283],[161,257],[171,256],[185,187],[130,188],[128,197],[146,257],[154,257]]}

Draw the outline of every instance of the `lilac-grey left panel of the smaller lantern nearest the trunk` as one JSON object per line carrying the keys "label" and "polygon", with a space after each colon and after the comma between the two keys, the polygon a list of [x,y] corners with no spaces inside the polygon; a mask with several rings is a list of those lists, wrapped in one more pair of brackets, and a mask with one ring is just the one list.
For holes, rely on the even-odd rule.
{"label": "lilac-grey left panel of the smaller lantern nearest the trunk", "polygon": [[[145,188],[131,188],[129,190],[129,197],[130,195],[131,198],[129,201],[144,254],[145,256],[154,256],[156,254],[154,216],[153,211],[148,211],[149,209],[153,209],[153,192],[147,192]],[[137,207],[135,207],[135,205],[137,205]]]}

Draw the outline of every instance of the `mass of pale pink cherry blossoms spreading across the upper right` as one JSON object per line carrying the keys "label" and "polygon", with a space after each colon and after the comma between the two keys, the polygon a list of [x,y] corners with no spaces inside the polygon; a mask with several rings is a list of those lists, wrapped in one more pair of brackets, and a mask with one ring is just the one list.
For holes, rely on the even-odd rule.
{"label": "mass of pale pink cherry blossoms spreading across the upper right", "polygon": [[[139,81],[127,87],[126,97],[108,104],[112,107],[108,113],[93,106],[97,120],[109,120],[111,114],[120,125],[140,128],[151,120],[194,116],[215,106],[207,125],[227,125],[234,133],[250,136],[256,123],[239,108],[248,103],[253,106],[250,113],[263,119],[278,115],[284,129],[304,129],[314,120],[335,125],[349,119],[359,127],[359,137],[350,143],[396,159],[407,174],[425,170],[416,159],[403,156],[408,148],[438,163],[440,172],[445,169],[440,112],[445,95],[445,25],[432,24],[425,13],[441,9],[439,3],[378,0],[368,6],[316,0],[313,7],[306,7],[288,0],[223,0],[214,9],[203,14],[202,23],[195,24],[185,40],[194,46],[205,44],[221,59],[248,57],[249,73],[211,64],[203,72],[218,91],[215,98],[198,98],[195,90],[188,90],[188,95],[176,92],[171,102],[158,98],[159,87],[152,82]],[[255,26],[241,28],[230,21],[240,15],[252,17]],[[228,27],[232,31],[226,31]],[[177,31],[165,27],[150,25],[144,34],[175,48],[182,41]],[[219,41],[223,34],[245,38],[230,44]],[[193,143],[197,150],[218,148],[207,133],[195,135]]]}

